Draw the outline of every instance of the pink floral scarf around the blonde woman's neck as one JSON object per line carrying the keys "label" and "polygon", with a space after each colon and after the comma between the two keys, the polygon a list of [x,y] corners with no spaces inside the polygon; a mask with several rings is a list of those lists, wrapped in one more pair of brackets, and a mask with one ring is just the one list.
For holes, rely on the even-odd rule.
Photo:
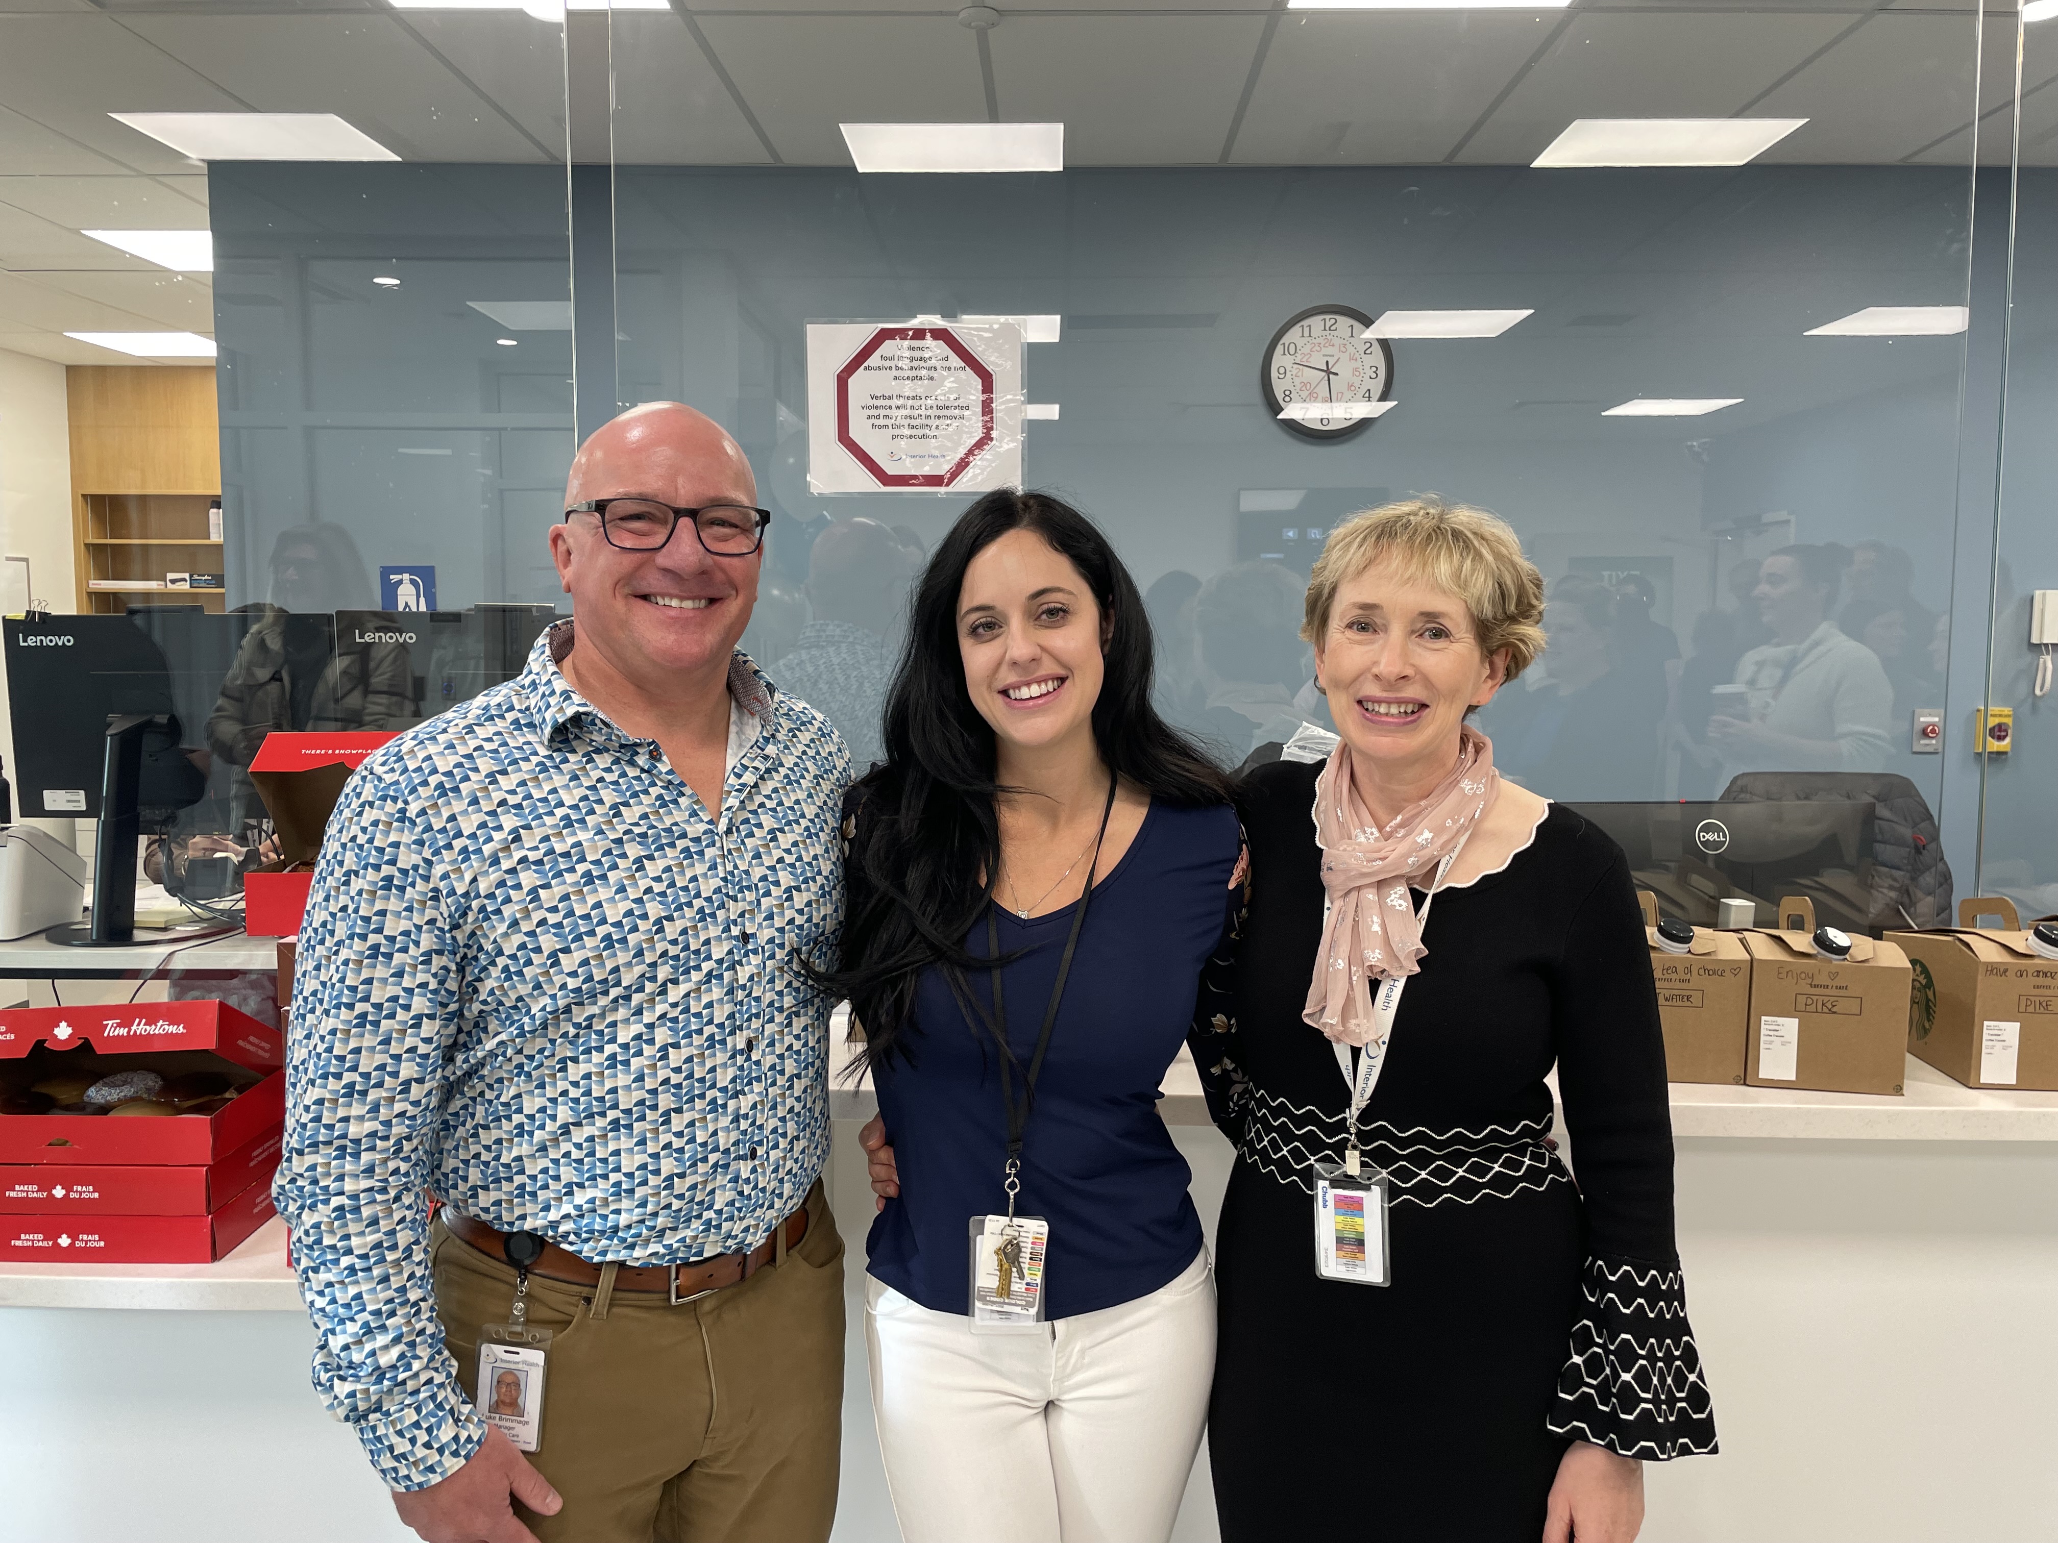
{"label": "pink floral scarf around the blonde woman's neck", "polygon": [[1338,743],[1315,780],[1315,844],[1329,909],[1301,1014],[1307,1022],[1342,1045],[1371,1041],[1371,981],[1414,975],[1428,953],[1408,881],[1457,852],[1498,792],[1494,747],[1465,724],[1451,774],[1381,831],[1350,782],[1350,745]]}

